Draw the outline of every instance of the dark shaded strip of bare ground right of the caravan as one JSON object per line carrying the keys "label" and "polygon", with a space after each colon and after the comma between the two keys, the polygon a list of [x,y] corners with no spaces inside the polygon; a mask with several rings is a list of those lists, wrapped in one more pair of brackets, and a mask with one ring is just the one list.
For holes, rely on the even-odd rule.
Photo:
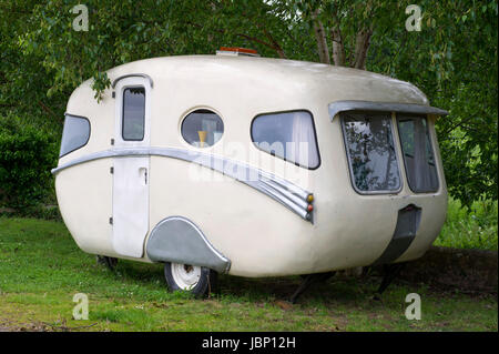
{"label": "dark shaded strip of bare ground right of the caravan", "polygon": [[497,293],[498,252],[431,246],[422,257],[408,262],[398,279],[440,289]]}

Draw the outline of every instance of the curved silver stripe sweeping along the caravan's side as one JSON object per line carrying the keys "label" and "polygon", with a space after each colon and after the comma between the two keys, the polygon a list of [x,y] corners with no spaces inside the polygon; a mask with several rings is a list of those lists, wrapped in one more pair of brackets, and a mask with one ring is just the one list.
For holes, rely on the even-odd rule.
{"label": "curved silver stripe sweeping along the caravan's side", "polygon": [[246,163],[198,151],[176,148],[125,148],[105,150],[90,153],[67,162],[53,169],[52,173],[57,174],[68,168],[100,159],[150,155],[194,162],[202,166],[221,172],[271,196],[294,213],[298,214],[301,218],[312,221],[312,214],[307,211],[308,202],[306,200],[307,196],[312,194],[308,191],[305,191],[289,181],[251,166]]}

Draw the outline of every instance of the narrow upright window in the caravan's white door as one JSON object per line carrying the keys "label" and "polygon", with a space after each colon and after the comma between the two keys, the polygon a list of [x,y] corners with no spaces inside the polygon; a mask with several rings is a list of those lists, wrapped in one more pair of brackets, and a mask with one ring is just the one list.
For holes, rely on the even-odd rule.
{"label": "narrow upright window in the caravan's white door", "polygon": [[144,139],[145,89],[128,88],[123,90],[122,136],[128,141]]}

